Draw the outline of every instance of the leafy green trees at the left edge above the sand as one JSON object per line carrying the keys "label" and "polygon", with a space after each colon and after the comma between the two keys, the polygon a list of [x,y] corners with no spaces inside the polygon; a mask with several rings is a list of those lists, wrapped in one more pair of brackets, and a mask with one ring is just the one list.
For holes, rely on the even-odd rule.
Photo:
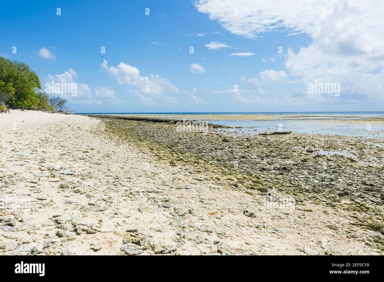
{"label": "leafy green trees at the left edge above the sand", "polygon": [[40,79],[28,65],[0,57],[0,104],[21,109],[53,110],[39,91]]}

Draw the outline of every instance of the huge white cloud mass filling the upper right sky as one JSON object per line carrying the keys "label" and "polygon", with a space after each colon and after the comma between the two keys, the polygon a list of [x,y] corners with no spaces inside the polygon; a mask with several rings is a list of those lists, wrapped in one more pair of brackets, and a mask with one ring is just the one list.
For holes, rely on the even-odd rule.
{"label": "huge white cloud mass filling the upper right sky", "polygon": [[301,77],[305,85],[339,82],[337,99],[384,100],[384,2],[197,0],[194,5],[245,38],[262,38],[271,31],[309,36],[308,46],[288,49],[285,66],[290,75]]}

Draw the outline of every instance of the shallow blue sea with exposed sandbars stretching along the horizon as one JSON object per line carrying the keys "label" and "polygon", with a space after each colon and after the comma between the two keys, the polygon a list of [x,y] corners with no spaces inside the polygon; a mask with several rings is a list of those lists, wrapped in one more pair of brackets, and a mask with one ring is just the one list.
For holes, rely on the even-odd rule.
{"label": "shallow blue sea with exposed sandbars stretching along the horizon", "polygon": [[[241,126],[226,132],[259,134],[279,130],[296,133],[361,136],[384,140],[384,112],[135,112],[76,113],[141,115],[147,117],[204,120],[212,124]],[[252,118],[254,116],[254,119]],[[281,116],[281,117],[280,117]],[[228,118],[227,118],[228,117]],[[372,122],[370,118],[377,119]],[[366,120],[366,121],[365,121]]]}

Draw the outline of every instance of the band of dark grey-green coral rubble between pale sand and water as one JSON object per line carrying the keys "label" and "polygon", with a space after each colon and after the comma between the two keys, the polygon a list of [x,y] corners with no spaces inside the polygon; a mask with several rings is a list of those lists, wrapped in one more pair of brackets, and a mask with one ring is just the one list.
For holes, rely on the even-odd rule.
{"label": "band of dark grey-green coral rubble between pale sand and water", "polygon": [[[178,132],[174,125],[104,120],[106,130],[146,146],[170,165],[194,167],[230,189],[284,192],[297,205],[326,205],[349,213],[351,224],[377,232],[384,250],[384,146],[362,137],[289,134],[255,136]],[[235,134],[236,135],[236,134]],[[354,152],[348,153],[348,152]],[[372,157],[373,156],[373,157]],[[217,176],[220,175],[220,176]]]}

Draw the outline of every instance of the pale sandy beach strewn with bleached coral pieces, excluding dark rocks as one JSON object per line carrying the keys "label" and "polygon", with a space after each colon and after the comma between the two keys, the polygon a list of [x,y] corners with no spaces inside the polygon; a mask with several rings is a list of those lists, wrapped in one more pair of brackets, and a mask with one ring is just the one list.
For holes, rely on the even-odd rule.
{"label": "pale sandy beach strewn with bleached coral pieces, excluding dark rocks", "polygon": [[343,210],[270,208],[259,191],[156,162],[101,120],[11,110],[0,125],[0,198],[33,199],[0,209],[0,255],[382,254]]}

